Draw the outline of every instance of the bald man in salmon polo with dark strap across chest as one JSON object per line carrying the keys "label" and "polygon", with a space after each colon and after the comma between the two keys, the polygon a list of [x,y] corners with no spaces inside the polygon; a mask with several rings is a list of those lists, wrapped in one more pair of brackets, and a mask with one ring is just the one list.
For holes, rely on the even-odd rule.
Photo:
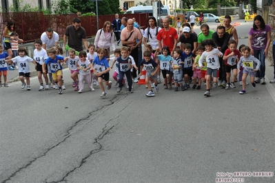
{"label": "bald man in salmon polo with dark strap across chest", "polygon": [[[138,39],[139,41],[136,42],[136,39]],[[139,29],[134,28],[134,21],[132,19],[128,19],[127,27],[121,30],[121,43],[124,46],[130,47],[131,56],[134,58],[136,65],[139,65],[139,46],[142,43],[142,35]],[[136,78],[136,69],[138,68],[133,67],[132,77],[134,78],[134,82],[139,81]]]}

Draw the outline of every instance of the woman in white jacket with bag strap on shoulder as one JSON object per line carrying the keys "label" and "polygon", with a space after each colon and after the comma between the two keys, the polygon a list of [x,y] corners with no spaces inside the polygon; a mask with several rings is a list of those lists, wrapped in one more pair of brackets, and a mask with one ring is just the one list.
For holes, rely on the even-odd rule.
{"label": "woman in white jacket with bag strap on shoulder", "polygon": [[110,46],[114,51],[116,47],[114,46],[114,32],[112,31],[112,25],[110,21],[105,21],[103,28],[96,32],[96,38],[94,39],[94,46],[96,48],[103,48],[108,50],[107,58],[110,57]]}

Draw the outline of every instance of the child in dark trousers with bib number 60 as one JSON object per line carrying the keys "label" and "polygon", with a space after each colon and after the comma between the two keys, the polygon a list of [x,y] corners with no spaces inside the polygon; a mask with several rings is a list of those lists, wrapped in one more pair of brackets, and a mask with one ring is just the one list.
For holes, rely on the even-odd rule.
{"label": "child in dark trousers with bib number 60", "polygon": [[128,56],[128,47],[121,47],[121,56],[119,58],[116,58],[116,61],[119,63],[119,88],[117,89],[117,93],[121,93],[121,89],[123,87],[123,76],[125,75],[128,82],[128,91],[129,93],[132,93],[132,60]]}

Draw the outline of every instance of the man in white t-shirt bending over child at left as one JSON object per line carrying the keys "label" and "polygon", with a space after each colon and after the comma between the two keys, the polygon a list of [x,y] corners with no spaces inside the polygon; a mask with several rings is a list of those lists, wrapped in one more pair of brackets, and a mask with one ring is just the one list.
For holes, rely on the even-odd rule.
{"label": "man in white t-shirt bending over child at left", "polygon": [[54,45],[59,45],[59,34],[54,32],[52,28],[47,28],[45,32],[41,34],[42,47],[47,50]]}

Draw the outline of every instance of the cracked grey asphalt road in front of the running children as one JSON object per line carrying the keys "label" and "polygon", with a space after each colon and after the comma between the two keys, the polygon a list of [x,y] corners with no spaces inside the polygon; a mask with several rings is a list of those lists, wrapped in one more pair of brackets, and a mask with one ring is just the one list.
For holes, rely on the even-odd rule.
{"label": "cracked grey asphalt road in front of the running children", "polygon": [[[239,36],[251,25],[239,25]],[[62,95],[38,92],[36,77],[31,91],[10,83],[0,89],[0,182],[216,182],[234,172],[238,182],[275,182],[256,177],[275,168],[268,65],[267,85],[250,84],[245,95],[238,85],[218,87],[209,98],[205,86],[174,92],[163,84],[154,98],[144,85],[133,94],[113,86],[105,98],[85,85],[78,94],[68,69]]]}

